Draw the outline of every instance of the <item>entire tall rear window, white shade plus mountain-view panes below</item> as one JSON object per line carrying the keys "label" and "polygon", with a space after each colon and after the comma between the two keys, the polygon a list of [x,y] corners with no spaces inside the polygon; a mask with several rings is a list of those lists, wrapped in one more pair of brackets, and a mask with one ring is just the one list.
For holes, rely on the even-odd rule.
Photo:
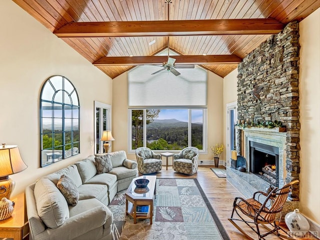
{"label": "entire tall rear window, white shade plus mountain-view panes below", "polygon": [[177,76],[158,70],[140,65],[128,71],[128,150],[206,151],[207,71],[196,65],[179,68]]}

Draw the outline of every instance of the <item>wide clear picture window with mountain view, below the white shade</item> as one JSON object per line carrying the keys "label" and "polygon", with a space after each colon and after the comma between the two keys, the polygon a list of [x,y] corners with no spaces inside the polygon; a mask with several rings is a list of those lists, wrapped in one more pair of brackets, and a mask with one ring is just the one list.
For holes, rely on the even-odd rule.
{"label": "wide clear picture window with mountain view, below the white shade", "polygon": [[129,109],[130,150],[181,150],[187,146],[205,149],[206,108]]}

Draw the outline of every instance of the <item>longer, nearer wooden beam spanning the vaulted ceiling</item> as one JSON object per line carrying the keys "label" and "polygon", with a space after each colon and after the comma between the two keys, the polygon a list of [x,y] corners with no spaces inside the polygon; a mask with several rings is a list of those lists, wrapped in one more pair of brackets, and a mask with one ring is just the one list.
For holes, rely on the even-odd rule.
{"label": "longer, nearer wooden beam spanning the vaulted ceiling", "polygon": [[70,22],[58,37],[179,36],[225,34],[275,34],[284,24],[272,18],[169,21]]}

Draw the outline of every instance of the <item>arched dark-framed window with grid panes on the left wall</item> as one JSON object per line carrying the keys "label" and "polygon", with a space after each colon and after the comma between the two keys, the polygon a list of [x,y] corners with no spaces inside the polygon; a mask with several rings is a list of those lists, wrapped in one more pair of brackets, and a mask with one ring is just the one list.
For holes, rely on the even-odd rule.
{"label": "arched dark-framed window with grid panes on the left wall", "polygon": [[80,105],[73,84],[64,76],[51,76],[40,94],[41,166],[79,153]]}

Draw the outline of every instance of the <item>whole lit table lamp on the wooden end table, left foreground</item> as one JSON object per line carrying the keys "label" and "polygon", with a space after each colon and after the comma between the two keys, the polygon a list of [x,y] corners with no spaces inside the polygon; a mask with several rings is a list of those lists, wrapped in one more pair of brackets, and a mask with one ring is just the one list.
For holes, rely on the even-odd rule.
{"label": "whole lit table lamp on the wooden end table, left foreground", "polygon": [[10,198],[15,182],[8,176],[23,171],[28,166],[22,160],[17,145],[0,146],[0,200]]}

